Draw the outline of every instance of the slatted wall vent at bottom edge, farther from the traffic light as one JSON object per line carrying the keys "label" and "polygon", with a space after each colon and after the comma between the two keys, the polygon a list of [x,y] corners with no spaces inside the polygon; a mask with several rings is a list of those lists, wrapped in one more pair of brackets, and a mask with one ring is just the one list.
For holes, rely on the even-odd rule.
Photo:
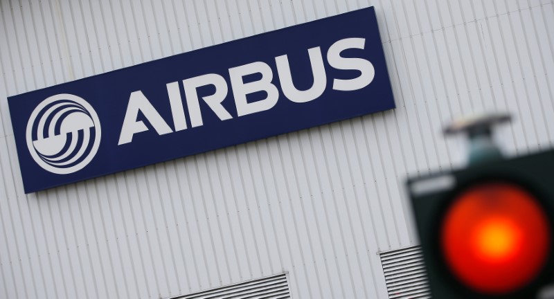
{"label": "slatted wall vent at bottom edge, farther from the traffic light", "polygon": [[208,291],[200,291],[185,296],[172,297],[170,299],[242,299],[242,298],[263,298],[263,299],[285,299],[290,298],[287,274],[279,274],[249,280],[238,284],[231,284],[226,287],[218,287]]}

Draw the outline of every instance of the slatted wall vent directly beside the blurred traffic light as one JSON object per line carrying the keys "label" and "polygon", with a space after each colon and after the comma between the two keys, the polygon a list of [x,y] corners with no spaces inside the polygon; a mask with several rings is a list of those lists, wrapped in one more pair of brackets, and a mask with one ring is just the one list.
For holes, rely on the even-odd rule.
{"label": "slatted wall vent directly beside the blurred traffic light", "polygon": [[431,298],[421,246],[379,253],[388,298]]}

